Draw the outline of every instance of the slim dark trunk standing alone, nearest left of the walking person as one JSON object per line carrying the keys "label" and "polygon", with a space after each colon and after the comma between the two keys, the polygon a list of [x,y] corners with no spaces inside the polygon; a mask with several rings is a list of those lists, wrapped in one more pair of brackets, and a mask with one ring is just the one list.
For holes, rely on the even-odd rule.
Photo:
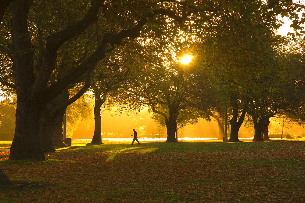
{"label": "slim dark trunk standing alone, nearest left of the walking person", "polygon": [[95,95],[94,106],[94,134],[91,143],[102,144],[102,118],[101,118],[101,106],[104,103],[101,96]]}

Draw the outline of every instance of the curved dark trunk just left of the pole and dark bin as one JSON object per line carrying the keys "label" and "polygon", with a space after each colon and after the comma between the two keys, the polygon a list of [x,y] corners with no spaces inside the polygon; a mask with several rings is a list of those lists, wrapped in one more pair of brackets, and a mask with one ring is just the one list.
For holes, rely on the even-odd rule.
{"label": "curved dark trunk just left of the pole and dark bin", "polygon": [[53,143],[56,148],[66,147],[63,142],[63,115],[66,112],[66,108],[59,112],[58,116],[54,120],[54,131],[53,131]]}

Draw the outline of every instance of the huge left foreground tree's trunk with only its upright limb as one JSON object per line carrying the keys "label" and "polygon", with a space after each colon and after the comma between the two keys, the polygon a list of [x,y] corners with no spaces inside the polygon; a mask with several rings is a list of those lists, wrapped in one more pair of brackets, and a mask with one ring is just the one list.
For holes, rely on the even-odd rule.
{"label": "huge left foreground tree's trunk with only its upright limb", "polygon": [[33,52],[28,35],[27,16],[31,1],[15,1],[10,6],[12,16],[13,73],[17,108],[16,129],[10,159],[44,161],[41,144],[41,116],[45,103],[43,88],[34,87]]}

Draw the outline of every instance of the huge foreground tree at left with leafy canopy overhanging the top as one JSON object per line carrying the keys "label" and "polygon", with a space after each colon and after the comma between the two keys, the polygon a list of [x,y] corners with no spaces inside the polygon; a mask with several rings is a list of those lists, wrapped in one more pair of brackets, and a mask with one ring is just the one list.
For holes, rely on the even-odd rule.
{"label": "huge foreground tree at left with leafy canopy overhanging the top", "polygon": [[[193,22],[196,21],[195,23],[198,23],[199,20],[200,24],[206,21],[214,22],[221,19],[217,16],[219,10],[231,11],[234,6],[234,9],[239,9],[240,5],[240,1],[230,1],[228,4],[223,4],[222,2],[178,2],[174,0],[165,2],[144,0],[140,2],[106,2],[102,0],[34,2],[16,0],[9,2],[11,2],[10,14],[4,16],[7,19],[12,19],[7,27],[10,28],[11,33],[8,38],[12,40],[10,53],[12,53],[13,59],[12,69],[15,84],[5,82],[3,78],[2,83],[16,88],[17,95],[16,131],[10,158],[35,160],[45,159],[40,135],[40,121],[45,104],[93,69],[97,62],[106,56],[106,50],[112,49],[110,46],[120,44],[124,38],[138,38],[142,30],[146,33],[149,27],[153,26],[153,24],[147,24],[148,22],[164,22],[169,27],[176,27],[176,23],[166,20],[171,18],[180,24],[186,21],[190,25],[192,20],[188,20],[188,16],[191,16]],[[58,2],[61,4],[57,5]],[[252,1],[246,2],[251,3]],[[299,8],[297,4],[292,5],[286,1],[267,2],[266,4],[262,8],[266,7],[267,10],[263,11],[272,16],[272,19],[275,19],[279,13],[283,16],[297,17],[296,14],[292,13],[296,8]],[[219,9],[219,5],[222,5],[221,9]],[[285,9],[282,8],[284,6]],[[101,7],[103,9],[100,11]],[[69,10],[70,12],[68,12]],[[261,11],[260,9],[255,10]],[[60,12],[65,15],[56,15]],[[41,13],[44,16],[41,16]],[[85,13],[85,15],[80,19],[75,17],[78,13]],[[61,20],[57,21],[60,17],[66,17],[67,14],[70,15],[67,18],[69,20],[65,21],[66,23],[62,23]],[[56,16],[56,18],[52,16]],[[48,21],[44,17],[51,20]],[[272,21],[272,23],[274,22]],[[91,29],[93,25],[96,25],[94,27],[96,29]],[[143,27],[147,30],[144,31]],[[91,52],[84,57],[84,60],[81,60],[81,63],[77,61],[84,54],[77,56],[76,63],[70,68],[69,73],[50,85],[48,82],[55,69],[54,64],[60,47],[65,43],[74,44],[76,42],[77,44],[84,36],[85,39],[92,39],[92,30],[96,30],[100,37],[94,38],[96,40],[92,44],[90,43]],[[87,31],[88,35],[82,35]],[[96,36],[96,32],[94,32],[94,36]],[[33,38],[37,39],[35,42],[38,42],[40,46],[32,46],[34,44],[32,43],[34,42]]]}

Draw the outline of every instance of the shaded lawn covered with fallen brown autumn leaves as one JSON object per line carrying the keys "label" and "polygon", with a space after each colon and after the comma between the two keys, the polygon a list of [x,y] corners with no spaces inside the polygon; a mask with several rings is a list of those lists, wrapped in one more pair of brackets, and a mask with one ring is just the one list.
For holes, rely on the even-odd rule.
{"label": "shaded lawn covered with fallen brown autumn leaves", "polygon": [[[141,142],[141,140],[140,140]],[[73,142],[46,161],[0,168],[41,188],[0,190],[0,202],[304,202],[305,139],[271,142]]]}

